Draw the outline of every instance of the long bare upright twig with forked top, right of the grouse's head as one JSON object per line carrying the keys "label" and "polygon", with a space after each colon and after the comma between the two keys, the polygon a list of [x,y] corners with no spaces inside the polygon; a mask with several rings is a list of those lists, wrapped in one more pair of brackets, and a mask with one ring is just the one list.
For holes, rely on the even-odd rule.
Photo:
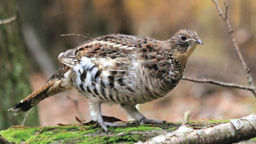
{"label": "long bare upright twig with forked top, right of the grouse's head", "polygon": [[243,65],[244,72],[245,72],[246,77],[247,77],[247,81],[248,81],[250,87],[253,89],[253,90],[252,90],[252,93],[253,93],[253,95],[254,95],[255,98],[256,98],[255,85],[254,85],[254,83],[253,83],[252,76],[251,76],[251,74],[250,74],[250,69],[247,67],[247,65],[246,65],[246,63],[245,63],[245,61],[244,61],[244,58],[243,58],[243,56],[242,56],[242,54],[241,54],[241,52],[240,52],[240,50],[239,50],[238,44],[236,43],[235,35],[234,35],[234,33],[233,33],[233,29],[232,29],[232,27],[231,27],[231,25],[230,25],[230,22],[229,22],[229,20],[228,20],[228,16],[227,16],[227,13],[228,13],[228,4],[224,4],[224,5],[225,5],[225,8],[226,8],[226,12],[225,12],[225,14],[223,14],[223,12],[222,12],[222,10],[221,10],[219,4],[218,4],[218,1],[217,1],[217,0],[212,0],[212,2],[216,5],[216,8],[217,8],[217,10],[218,10],[218,12],[219,12],[221,18],[225,21],[225,23],[226,23],[226,25],[227,25],[228,34],[230,35],[230,38],[231,38],[232,43],[233,43],[233,45],[234,45],[234,48],[235,48],[235,50],[236,50],[237,56],[239,57],[240,62],[241,62],[242,65]]}

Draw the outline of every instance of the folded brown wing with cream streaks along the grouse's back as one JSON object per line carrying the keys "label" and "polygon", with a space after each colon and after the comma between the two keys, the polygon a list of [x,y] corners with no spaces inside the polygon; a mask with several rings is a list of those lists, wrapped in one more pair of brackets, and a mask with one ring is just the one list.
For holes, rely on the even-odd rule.
{"label": "folded brown wing with cream streaks along the grouse's back", "polygon": [[81,61],[82,57],[108,57],[115,59],[127,57],[129,54],[134,53],[137,53],[138,56],[145,56],[147,53],[152,52],[148,48],[148,40],[152,41],[153,39],[120,34],[101,36],[89,40],[75,49],[60,53],[58,60],[73,69]]}

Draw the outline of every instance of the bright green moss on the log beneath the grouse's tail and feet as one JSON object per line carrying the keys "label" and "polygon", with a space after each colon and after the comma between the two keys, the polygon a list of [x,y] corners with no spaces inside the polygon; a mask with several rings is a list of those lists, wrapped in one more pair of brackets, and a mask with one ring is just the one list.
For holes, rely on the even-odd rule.
{"label": "bright green moss on the log beneath the grouse's tail and feet", "polygon": [[[117,143],[128,142],[134,143],[138,140],[146,140],[140,134],[129,134],[127,132],[132,131],[147,131],[161,129],[154,127],[152,124],[145,124],[139,127],[124,127],[115,128],[109,127],[110,132],[114,134],[118,132],[125,132],[120,136],[87,136],[89,133],[95,133],[99,128],[92,129],[93,126],[81,127],[80,125],[68,125],[68,126],[55,126],[55,127],[37,127],[37,128],[10,128],[6,131],[1,131],[7,140],[20,142],[31,141],[30,144],[49,144],[55,142],[70,143],[76,141],[77,143]],[[82,130],[81,130],[82,129]],[[41,132],[40,132],[41,131]],[[38,133],[40,132],[40,133]],[[102,132],[102,131],[99,131]],[[38,140],[39,139],[39,140]]]}

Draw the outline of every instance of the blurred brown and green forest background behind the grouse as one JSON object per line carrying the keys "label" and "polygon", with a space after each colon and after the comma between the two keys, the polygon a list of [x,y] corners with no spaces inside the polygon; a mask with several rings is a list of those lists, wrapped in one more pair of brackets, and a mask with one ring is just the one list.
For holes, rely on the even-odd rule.
{"label": "blurred brown and green forest background behind the grouse", "polygon": [[[219,0],[223,9],[224,2],[229,4],[228,19],[256,82],[256,1]],[[15,9],[19,19],[0,25],[0,130],[21,124],[25,114],[13,116],[7,110],[55,73],[61,65],[60,52],[86,41],[62,34],[120,33],[166,40],[189,28],[204,45],[197,46],[189,58],[184,76],[248,85],[211,0],[1,0],[0,19],[15,15]],[[77,123],[75,116],[91,120],[88,102],[74,90],[52,96],[33,108],[25,125],[72,124]],[[147,118],[170,122],[181,121],[186,110],[195,113],[190,120],[230,119],[256,112],[256,100],[249,91],[181,80],[168,95],[139,109]],[[118,105],[103,105],[102,113],[128,120]]]}

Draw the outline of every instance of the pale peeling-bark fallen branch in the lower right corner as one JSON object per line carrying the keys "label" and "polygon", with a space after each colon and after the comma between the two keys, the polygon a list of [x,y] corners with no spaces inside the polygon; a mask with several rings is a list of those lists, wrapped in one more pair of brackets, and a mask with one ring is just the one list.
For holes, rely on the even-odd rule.
{"label": "pale peeling-bark fallen branch in the lower right corner", "polygon": [[232,119],[229,123],[195,129],[181,125],[177,130],[136,144],[234,143],[256,137],[256,115]]}

